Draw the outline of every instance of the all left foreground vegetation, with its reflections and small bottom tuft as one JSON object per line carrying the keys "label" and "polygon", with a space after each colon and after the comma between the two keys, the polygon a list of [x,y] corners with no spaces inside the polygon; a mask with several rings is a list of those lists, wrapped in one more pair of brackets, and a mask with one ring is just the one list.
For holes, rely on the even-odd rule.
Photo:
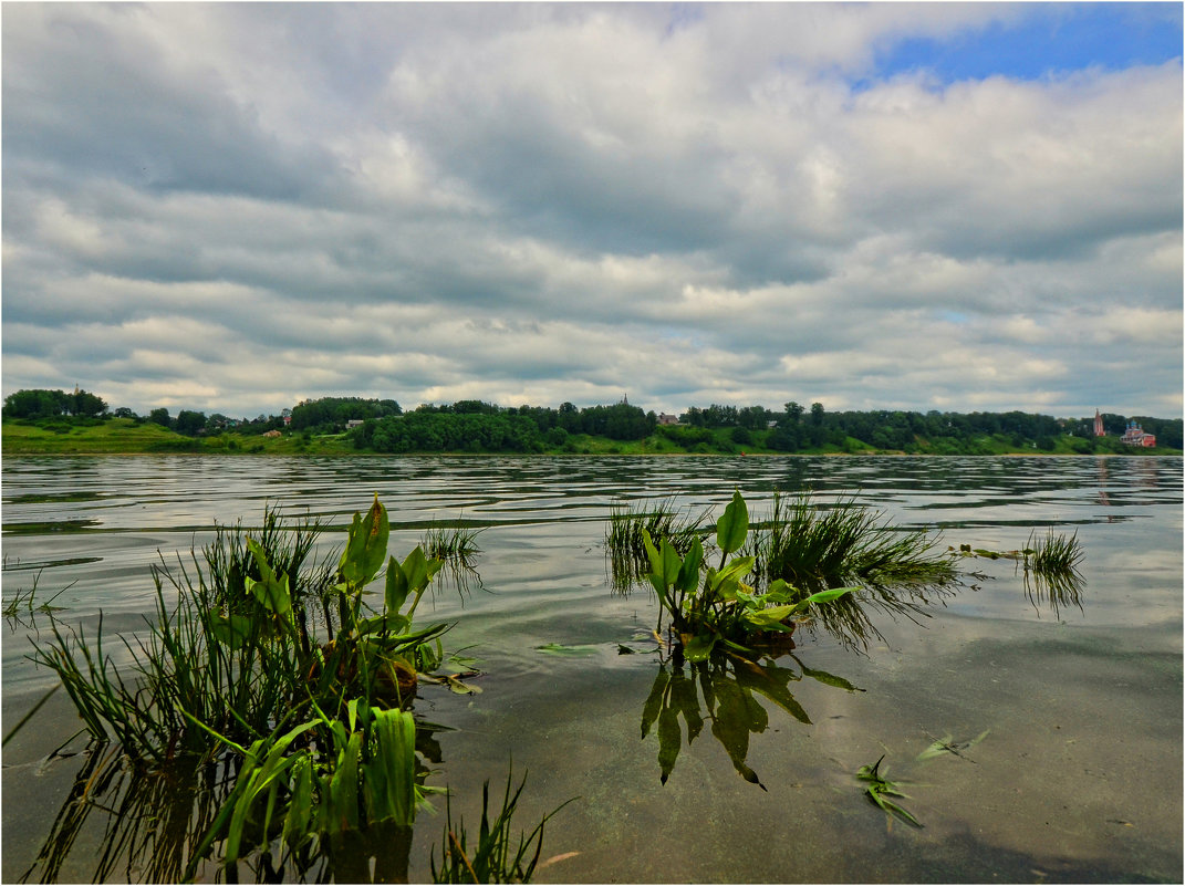
{"label": "all left foreground vegetation, with its reflections and small bottom tuft", "polygon": [[[474,692],[465,682],[474,674],[444,651],[448,624],[416,618],[444,561],[422,547],[402,563],[387,556],[377,497],[365,516],[354,515],[335,565],[312,560],[320,529],[289,531],[273,512],[255,537],[220,528],[191,564],[155,569],[148,635],[120,641],[130,668],[104,649],[111,641],[102,619],[90,637],[51,619],[52,641],[34,643],[33,660],[57,673],[85,724],[87,790],[101,794],[120,772],[133,776],[123,803],[135,814],[111,826],[104,877],[130,846],[149,859],[154,880],[191,880],[216,849],[228,881],[241,863],[258,880],[369,881],[372,861],[376,875],[406,880],[417,811],[442,792],[425,785],[428,763],[440,762],[438,727],[412,712],[414,699],[425,683]],[[429,533],[438,552],[461,561],[474,554],[473,540],[470,532]],[[148,785],[166,784],[192,791],[182,803],[192,811],[153,827],[146,822],[160,810],[142,803],[161,802]],[[530,879],[546,818],[512,839],[521,789],[508,776],[491,815],[487,783],[475,835],[449,808],[431,860],[437,881]],[[34,865],[43,879],[55,879],[90,808],[68,805]]]}

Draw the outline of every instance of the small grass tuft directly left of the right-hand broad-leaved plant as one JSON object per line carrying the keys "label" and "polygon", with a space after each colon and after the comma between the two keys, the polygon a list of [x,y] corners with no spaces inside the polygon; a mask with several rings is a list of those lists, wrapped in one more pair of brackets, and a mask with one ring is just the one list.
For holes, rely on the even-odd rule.
{"label": "small grass tuft directly left of the right-hand broad-leaved plant", "polygon": [[684,513],[671,499],[615,505],[604,535],[614,589],[626,592],[646,576],[649,569],[647,535],[654,545],[667,541],[679,556],[685,556],[691,550],[692,541],[706,534],[706,511],[698,516]]}

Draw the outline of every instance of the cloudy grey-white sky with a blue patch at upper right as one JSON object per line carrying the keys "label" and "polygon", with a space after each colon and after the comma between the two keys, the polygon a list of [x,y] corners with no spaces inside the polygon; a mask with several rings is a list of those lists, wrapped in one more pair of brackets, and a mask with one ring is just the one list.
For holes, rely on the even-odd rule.
{"label": "cloudy grey-white sky with a blue patch at upper right", "polygon": [[2,9],[2,387],[1181,415],[1181,6]]}

